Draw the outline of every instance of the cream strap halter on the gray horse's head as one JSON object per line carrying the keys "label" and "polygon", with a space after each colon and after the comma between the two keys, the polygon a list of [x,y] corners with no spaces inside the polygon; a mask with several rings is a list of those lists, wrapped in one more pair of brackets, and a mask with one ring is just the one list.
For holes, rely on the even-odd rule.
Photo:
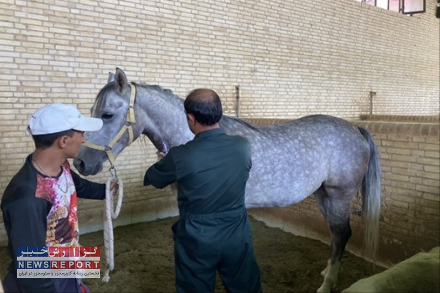
{"label": "cream strap halter on the gray horse's head", "polygon": [[107,146],[101,146],[90,142],[83,143],[83,146],[105,151],[107,153],[107,157],[109,157],[109,162],[111,167],[114,166],[114,161],[116,159],[116,157],[114,157],[113,154],[111,153],[111,148],[114,146],[114,144],[116,144],[116,142],[121,138],[121,136],[124,134],[126,130],[128,130],[129,133],[129,143],[127,144],[127,146],[129,146],[133,142],[132,125],[136,122],[136,120],[134,119],[134,99],[136,98],[136,87],[132,83],[130,84],[130,87],[132,89],[132,92],[130,94],[130,105],[127,111],[127,120],[125,122],[125,125],[121,127],[121,129],[116,134],[116,136],[111,140],[111,142]]}

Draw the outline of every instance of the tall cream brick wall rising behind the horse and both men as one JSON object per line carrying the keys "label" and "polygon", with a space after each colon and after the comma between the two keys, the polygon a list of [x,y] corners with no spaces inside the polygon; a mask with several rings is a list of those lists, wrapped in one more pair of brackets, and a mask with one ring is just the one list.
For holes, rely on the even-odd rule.
{"label": "tall cream brick wall rising behind the horse and both men", "polygon": [[[0,0],[0,194],[33,150],[30,114],[52,102],[88,113],[116,66],[181,97],[211,87],[229,115],[241,85],[245,118],[436,115],[435,6],[427,0],[426,13],[409,17],[354,0]],[[169,188],[142,187],[155,161],[145,145],[117,159],[125,184],[117,225],[176,214]],[[82,232],[101,227],[101,207],[79,202]],[[0,225],[0,243],[4,235]]]}

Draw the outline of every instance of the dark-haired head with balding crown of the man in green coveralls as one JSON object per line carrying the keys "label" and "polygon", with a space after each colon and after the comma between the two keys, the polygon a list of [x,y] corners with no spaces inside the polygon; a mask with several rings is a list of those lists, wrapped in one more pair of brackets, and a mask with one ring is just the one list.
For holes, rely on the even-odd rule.
{"label": "dark-haired head with balding crown of the man in green coveralls", "polygon": [[193,114],[198,123],[204,126],[216,124],[223,114],[219,95],[207,88],[190,92],[183,105],[186,113]]}

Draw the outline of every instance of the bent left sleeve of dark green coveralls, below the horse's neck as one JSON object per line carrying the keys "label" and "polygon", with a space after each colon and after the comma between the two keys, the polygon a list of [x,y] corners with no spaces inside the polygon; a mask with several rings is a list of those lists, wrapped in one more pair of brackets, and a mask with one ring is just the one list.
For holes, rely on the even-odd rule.
{"label": "bent left sleeve of dark green coveralls, below the horse's neck", "polygon": [[153,185],[155,188],[164,188],[177,180],[176,164],[174,163],[172,150],[159,162],[153,164],[145,172],[144,186]]}

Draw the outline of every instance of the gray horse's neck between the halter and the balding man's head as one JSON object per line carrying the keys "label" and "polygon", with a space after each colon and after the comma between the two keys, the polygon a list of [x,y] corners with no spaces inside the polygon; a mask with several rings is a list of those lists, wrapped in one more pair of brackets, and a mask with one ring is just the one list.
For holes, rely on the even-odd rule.
{"label": "gray horse's neck between the halter and the balding man's head", "polygon": [[186,122],[183,100],[158,86],[139,86],[138,107],[142,133],[158,150],[184,144],[194,137]]}

